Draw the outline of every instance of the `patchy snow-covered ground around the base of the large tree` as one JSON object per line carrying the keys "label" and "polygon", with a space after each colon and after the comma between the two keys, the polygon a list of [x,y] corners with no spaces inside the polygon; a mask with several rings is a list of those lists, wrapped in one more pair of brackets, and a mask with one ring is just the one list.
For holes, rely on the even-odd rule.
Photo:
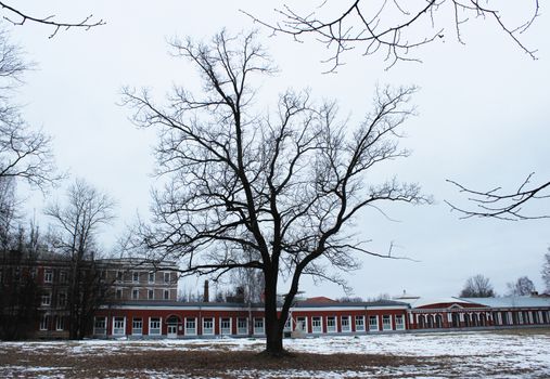
{"label": "patchy snow-covered ground around the base of the large tree", "polygon": [[[258,339],[216,340],[87,340],[79,342],[2,342],[0,354],[9,351],[28,354],[108,355],[144,351],[261,351],[264,341]],[[285,340],[293,352],[318,354],[383,354],[425,358],[425,365],[398,367],[370,367],[364,371],[307,371],[307,370],[228,370],[230,377],[261,378],[550,378],[550,334],[548,330],[532,332],[442,332],[368,335],[360,337],[321,337]],[[47,362],[47,360],[46,360]],[[0,366],[0,377],[65,378],[66,367],[28,367],[24,364]],[[131,373],[112,373],[113,377],[131,377]],[[130,375],[128,375],[130,374]],[[172,378],[169,371],[141,371],[146,377]]]}

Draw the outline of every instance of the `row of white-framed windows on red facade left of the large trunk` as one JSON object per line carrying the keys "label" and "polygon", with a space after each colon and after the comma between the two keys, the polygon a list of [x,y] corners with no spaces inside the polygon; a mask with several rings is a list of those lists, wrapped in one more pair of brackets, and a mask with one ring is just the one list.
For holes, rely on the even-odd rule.
{"label": "row of white-framed windows on red facade left of the large trunk", "polygon": [[[95,336],[105,336],[107,334],[106,329],[107,318],[106,317],[95,317],[93,325],[93,334]],[[149,336],[161,336],[162,335],[162,317],[149,317]],[[215,317],[203,317],[202,318],[202,335],[203,336],[214,336],[216,327],[216,318]],[[184,335],[186,336],[197,336],[197,319],[196,317],[186,317],[186,322],[183,324]],[[229,336],[232,335],[232,319],[229,317],[219,318],[219,328],[220,335]],[[125,336],[126,335],[126,317],[115,316],[113,317],[112,324],[112,335],[113,336]],[[168,337],[176,337],[178,334],[178,324],[177,323],[167,323],[167,335]],[[236,334],[246,336],[248,335],[248,319],[244,317],[236,318]],[[265,326],[264,318],[255,317],[253,323],[253,334],[254,335],[264,335]],[[143,335],[143,318],[142,317],[133,317],[131,319],[131,335],[132,336],[142,336]]]}

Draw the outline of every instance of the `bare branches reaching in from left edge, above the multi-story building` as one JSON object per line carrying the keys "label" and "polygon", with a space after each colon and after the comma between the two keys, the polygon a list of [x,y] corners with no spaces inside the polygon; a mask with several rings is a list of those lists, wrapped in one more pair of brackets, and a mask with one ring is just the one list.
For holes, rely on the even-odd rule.
{"label": "bare branches reaching in from left edge, above the multi-story building", "polygon": [[51,140],[31,130],[11,103],[12,90],[28,67],[20,49],[0,31],[0,178],[21,178],[43,191],[62,178],[55,173]]}

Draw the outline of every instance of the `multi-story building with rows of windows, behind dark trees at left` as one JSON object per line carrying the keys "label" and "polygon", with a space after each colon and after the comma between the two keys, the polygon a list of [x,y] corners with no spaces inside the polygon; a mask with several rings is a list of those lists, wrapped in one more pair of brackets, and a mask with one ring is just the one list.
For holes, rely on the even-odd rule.
{"label": "multi-story building with rows of windows, behind dark trees at left", "polygon": [[[101,305],[177,298],[174,262],[105,259],[81,261],[76,267],[55,254],[17,260],[7,257],[0,260],[0,329],[7,329],[0,330],[0,338],[68,338],[73,321],[81,323],[89,335],[93,312]],[[25,330],[9,330],[10,325]]]}

